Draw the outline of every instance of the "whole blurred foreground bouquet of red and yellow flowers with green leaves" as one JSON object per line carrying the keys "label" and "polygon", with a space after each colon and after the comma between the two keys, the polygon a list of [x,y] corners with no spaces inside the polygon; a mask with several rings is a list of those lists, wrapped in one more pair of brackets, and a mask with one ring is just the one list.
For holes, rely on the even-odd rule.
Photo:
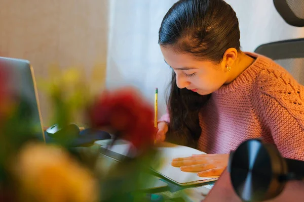
{"label": "whole blurred foreground bouquet of red and yellow flowers with green leaves", "polygon": [[[76,69],[59,75],[51,81],[39,81],[56,109],[53,122],[64,127],[73,122],[75,111],[85,109],[83,117],[88,126],[93,130],[107,127],[115,134],[108,147],[123,138],[136,153],[109,167],[107,159],[100,158],[99,146],[70,148],[68,142],[77,137],[69,134],[52,144],[39,142],[34,131],[26,130],[31,115],[28,103],[22,97],[14,98],[11,103],[17,105],[0,122],[0,200],[146,201],[146,194],[140,190],[151,180],[148,165],[157,164],[158,155],[153,147],[153,107],[135,89],[96,96],[89,93],[89,82]],[[7,82],[3,77],[0,92],[5,92],[2,82]],[[8,106],[4,97],[0,97],[0,109]]]}

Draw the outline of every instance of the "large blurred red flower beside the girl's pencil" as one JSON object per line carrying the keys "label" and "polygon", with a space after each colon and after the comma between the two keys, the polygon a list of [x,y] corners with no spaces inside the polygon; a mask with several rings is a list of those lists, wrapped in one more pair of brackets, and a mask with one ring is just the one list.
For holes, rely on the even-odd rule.
{"label": "large blurred red flower beside the girl's pencil", "polygon": [[93,128],[110,127],[136,148],[153,143],[153,107],[133,89],[103,93],[91,106],[89,117]]}

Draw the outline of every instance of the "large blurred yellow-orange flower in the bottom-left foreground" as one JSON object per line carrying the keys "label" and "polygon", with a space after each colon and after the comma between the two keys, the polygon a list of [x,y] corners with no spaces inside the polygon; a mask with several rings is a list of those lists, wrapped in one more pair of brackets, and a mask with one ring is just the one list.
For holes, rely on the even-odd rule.
{"label": "large blurred yellow-orange flower in the bottom-left foreground", "polygon": [[60,147],[28,143],[13,163],[20,201],[98,201],[96,179]]}

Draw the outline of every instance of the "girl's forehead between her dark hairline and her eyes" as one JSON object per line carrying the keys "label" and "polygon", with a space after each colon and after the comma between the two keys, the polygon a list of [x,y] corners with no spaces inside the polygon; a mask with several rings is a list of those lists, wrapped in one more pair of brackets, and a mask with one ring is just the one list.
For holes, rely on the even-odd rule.
{"label": "girl's forehead between her dark hairline and her eyes", "polygon": [[198,60],[191,54],[176,53],[171,47],[161,46],[161,51],[165,62],[174,69],[184,67],[200,68],[202,66],[214,65],[213,62],[207,60]]}

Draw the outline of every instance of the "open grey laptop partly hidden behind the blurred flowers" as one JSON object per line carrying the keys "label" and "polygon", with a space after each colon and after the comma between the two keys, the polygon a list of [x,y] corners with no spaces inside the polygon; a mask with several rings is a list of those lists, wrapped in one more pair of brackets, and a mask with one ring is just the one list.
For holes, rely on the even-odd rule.
{"label": "open grey laptop partly hidden behind the blurred flowers", "polygon": [[34,70],[30,62],[0,57],[0,67],[7,69],[9,72],[9,79],[6,83],[9,91],[18,97],[22,97],[30,107],[28,130],[33,131],[37,138],[46,142]]}

